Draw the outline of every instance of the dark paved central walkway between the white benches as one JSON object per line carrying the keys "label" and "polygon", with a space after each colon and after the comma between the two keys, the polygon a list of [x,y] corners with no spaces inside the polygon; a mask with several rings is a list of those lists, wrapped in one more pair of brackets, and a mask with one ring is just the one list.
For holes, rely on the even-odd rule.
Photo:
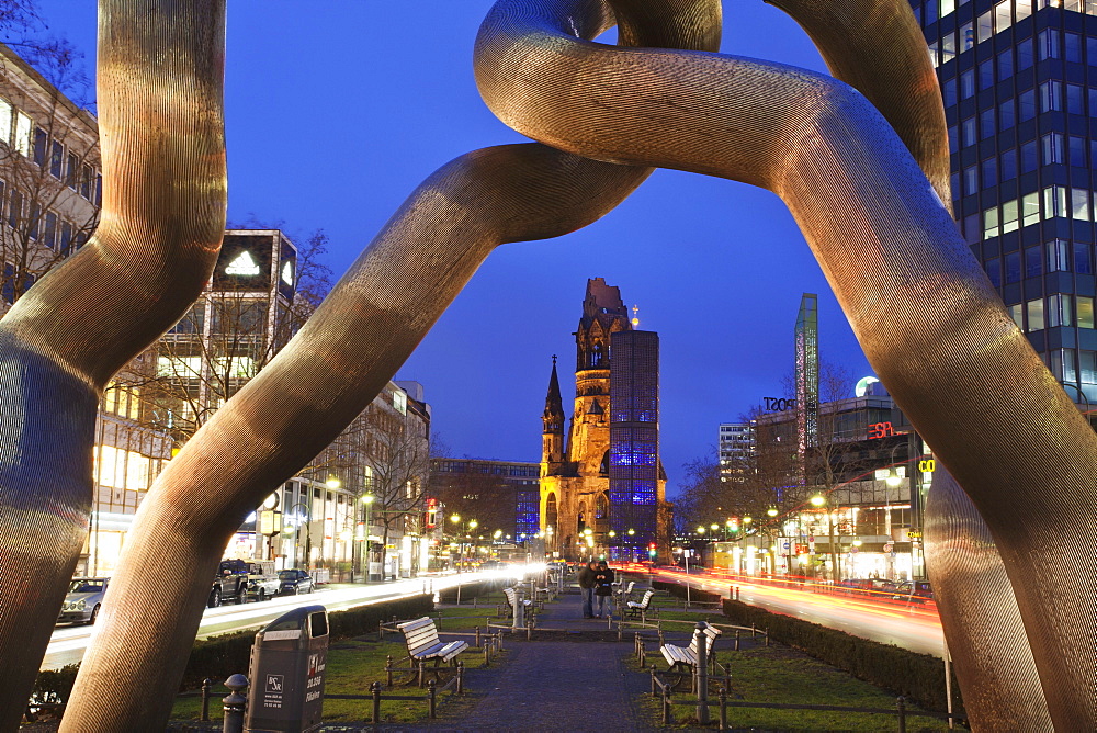
{"label": "dark paved central walkway between the white benches", "polygon": [[[574,589],[572,589],[574,591]],[[505,638],[510,659],[490,675],[494,689],[467,714],[431,728],[453,731],[651,731],[638,698],[647,678],[625,667],[632,645],[609,639],[606,621],[584,619],[581,597],[565,594],[538,616],[540,634]],[[536,641],[567,632],[565,641]],[[470,679],[470,686],[475,683]]]}

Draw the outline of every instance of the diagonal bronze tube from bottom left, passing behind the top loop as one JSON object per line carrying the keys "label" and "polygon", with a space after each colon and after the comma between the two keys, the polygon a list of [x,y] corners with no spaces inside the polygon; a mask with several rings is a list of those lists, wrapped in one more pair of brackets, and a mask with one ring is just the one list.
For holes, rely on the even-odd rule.
{"label": "diagonal bronze tube from bottom left, passing behind the top loop", "polygon": [[[636,24],[653,18],[651,30]],[[612,15],[584,2],[569,21],[593,37]],[[671,3],[636,23],[634,41],[719,46],[712,0]],[[365,408],[496,246],[585,226],[649,172],[534,144],[471,153],[425,181],[301,332],[157,480],[63,730],[162,730],[210,578],[242,518]]]}

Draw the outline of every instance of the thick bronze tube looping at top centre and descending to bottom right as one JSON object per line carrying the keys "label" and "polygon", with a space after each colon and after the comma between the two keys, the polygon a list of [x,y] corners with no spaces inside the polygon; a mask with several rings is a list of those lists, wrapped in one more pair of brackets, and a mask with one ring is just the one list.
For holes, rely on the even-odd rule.
{"label": "thick bronze tube looping at top centre and descending to bottom right", "polygon": [[[1097,437],[894,131],[829,78],[630,48],[602,49],[596,65],[564,44],[545,53],[542,22],[493,12],[477,44],[489,106],[570,153],[731,178],[785,201],[869,361],[986,519],[1052,719],[1097,726]],[[1063,602],[1070,613],[1049,616]]]}

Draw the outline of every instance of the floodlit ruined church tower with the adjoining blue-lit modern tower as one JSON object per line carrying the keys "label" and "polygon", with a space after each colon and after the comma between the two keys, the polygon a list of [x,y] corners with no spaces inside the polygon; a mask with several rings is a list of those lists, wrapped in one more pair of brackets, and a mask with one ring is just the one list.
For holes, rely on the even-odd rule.
{"label": "floodlit ruined church tower with the adjoining blue-lit modern tower", "polygon": [[658,337],[634,330],[633,323],[617,287],[601,278],[587,281],[566,440],[553,360],[542,415],[541,526],[550,549],[564,557],[587,557],[596,549],[631,556],[665,543]]}

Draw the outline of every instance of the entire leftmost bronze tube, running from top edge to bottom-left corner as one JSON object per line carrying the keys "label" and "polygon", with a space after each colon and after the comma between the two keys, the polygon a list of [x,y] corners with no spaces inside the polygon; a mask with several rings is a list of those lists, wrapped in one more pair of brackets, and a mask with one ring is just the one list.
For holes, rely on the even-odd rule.
{"label": "entire leftmost bronze tube, running from top edge to bottom-left corner", "polygon": [[100,13],[102,223],[0,320],[4,731],[87,538],[99,395],[197,297],[225,226],[222,0],[103,0]]}

